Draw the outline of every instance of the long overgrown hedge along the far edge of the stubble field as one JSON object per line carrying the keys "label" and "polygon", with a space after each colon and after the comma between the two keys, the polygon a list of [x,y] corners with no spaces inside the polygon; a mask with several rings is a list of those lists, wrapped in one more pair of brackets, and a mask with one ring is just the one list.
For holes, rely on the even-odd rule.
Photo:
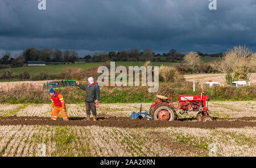
{"label": "long overgrown hedge along the far edge of the stubble field", "polygon": [[[100,87],[101,88],[101,103],[132,103],[141,102],[141,98],[146,97],[144,102],[153,102],[155,94],[164,95],[164,91],[170,93],[170,89],[174,87],[174,101],[183,94],[193,94],[192,83],[188,81],[160,83],[159,91],[156,93],[148,92],[148,87]],[[55,89],[56,92],[63,94],[67,104],[84,103],[85,92],[82,89],[65,87]],[[195,94],[200,93],[200,85],[196,85]],[[255,87],[204,87],[204,94],[209,96],[212,101],[226,100],[256,100]],[[0,103],[22,104],[50,104],[48,90],[42,91],[42,86],[33,84],[21,84],[14,88],[0,87]]]}

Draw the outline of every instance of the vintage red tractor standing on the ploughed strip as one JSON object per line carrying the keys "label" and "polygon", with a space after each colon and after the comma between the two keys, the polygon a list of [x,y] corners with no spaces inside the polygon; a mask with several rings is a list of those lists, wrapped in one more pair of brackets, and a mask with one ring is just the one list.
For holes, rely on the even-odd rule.
{"label": "vintage red tractor standing on the ploughed strip", "polygon": [[[203,95],[203,89],[199,95],[179,95],[177,105],[173,104],[174,101],[174,89],[165,96],[156,95],[159,99],[152,103],[149,114],[154,120],[177,120],[177,112],[181,115],[191,112],[198,111],[196,119],[201,122],[213,121],[208,111],[208,96]],[[168,96],[168,97],[166,97]]]}

